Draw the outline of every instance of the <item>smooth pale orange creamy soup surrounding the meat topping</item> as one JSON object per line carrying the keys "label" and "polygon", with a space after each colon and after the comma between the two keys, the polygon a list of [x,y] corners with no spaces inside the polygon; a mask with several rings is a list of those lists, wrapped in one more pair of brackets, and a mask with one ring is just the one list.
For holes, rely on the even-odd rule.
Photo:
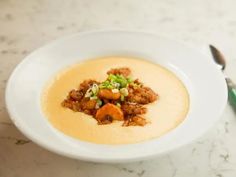
{"label": "smooth pale orange creamy soup surrounding the meat topping", "polygon": [[[122,126],[116,121],[98,125],[82,112],[61,106],[68,92],[86,79],[103,81],[111,68],[129,67],[132,77],[138,78],[158,95],[157,101],[146,105],[148,120],[145,126]],[[105,57],[76,64],[47,85],[42,96],[43,111],[49,122],[66,135],[98,144],[128,144],[158,138],[178,126],[189,109],[189,95],[183,83],[169,70],[141,59]]]}

